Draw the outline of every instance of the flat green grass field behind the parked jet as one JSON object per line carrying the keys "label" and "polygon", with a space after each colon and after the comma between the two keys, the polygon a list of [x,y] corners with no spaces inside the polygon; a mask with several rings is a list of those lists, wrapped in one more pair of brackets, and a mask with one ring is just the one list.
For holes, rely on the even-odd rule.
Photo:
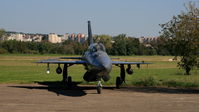
{"label": "flat green grass field behind the parked jet", "polygon": [[[46,74],[46,64],[33,63],[37,60],[51,59],[61,55],[0,55],[0,83],[35,83],[45,81],[61,81],[62,75],[57,75],[57,65],[50,65],[51,73]],[[63,56],[63,55],[62,55]],[[116,58],[117,56],[113,56]],[[192,75],[184,75],[184,71],[177,68],[177,61],[169,62],[172,56],[118,56],[122,61],[152,62],[150,65],[136,66],[133,75],[126,76],[126,84],[135,86],[171,86],[171,87],[199,87],[199,70],[195,69]],[[62,65],[63,67],[63,65]],[[85,73],[82,65],[73,65],[69,68],[69,75],[74,81],[83,81]],[[113,66],[111,80],[105,85],[114,85],[120,68]],[[95,84],[95,83],[91,83]]]}

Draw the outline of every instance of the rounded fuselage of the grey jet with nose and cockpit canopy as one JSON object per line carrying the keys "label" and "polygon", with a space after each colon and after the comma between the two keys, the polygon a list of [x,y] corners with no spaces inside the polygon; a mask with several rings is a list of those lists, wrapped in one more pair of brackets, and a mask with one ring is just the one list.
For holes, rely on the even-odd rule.
{"label": "rounded fuselage of the grey jet with nose and cockpit canopy", "polygon": [[84,79],[86,81],[98,81],[101,78],[104,81],[108,81],[110,79],[109,73],[112,69],[112,61],[107,55],[103,44],[91,44],[83,59],[88,62],[85,65],[87,72],[84,75]]}

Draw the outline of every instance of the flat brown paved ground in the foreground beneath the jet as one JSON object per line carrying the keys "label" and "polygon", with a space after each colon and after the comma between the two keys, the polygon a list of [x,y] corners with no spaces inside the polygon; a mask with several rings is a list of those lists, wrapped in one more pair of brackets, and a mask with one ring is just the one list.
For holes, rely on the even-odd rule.
{"label": "flat brown paved ground in the foreground beneath the jet", "polygon": [[199,112],[199,90],[0,84],[0,112]]}

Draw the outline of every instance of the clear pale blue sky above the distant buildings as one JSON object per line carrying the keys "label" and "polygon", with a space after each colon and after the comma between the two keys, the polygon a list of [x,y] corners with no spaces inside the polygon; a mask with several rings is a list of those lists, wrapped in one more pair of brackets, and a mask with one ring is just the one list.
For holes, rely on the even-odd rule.
{"label": "clear pale blue sky above the distant buildings", "polygon": [[[158,36],[190,0],[0,0],[0,28],[25,33]],[[199,1],[199,0],[193,0]]]}

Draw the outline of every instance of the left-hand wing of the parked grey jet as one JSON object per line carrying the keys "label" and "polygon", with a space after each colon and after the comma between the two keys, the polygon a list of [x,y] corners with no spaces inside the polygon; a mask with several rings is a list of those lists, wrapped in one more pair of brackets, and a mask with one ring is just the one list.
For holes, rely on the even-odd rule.
{"label": "left-hand wing of the parked grey jet", "polygon": [[36,63],[49,63],[49,64],[86,64],[87,61],[84,60],[77,60],[77,61],[63,61],[63,60],[56,60],[56,59],[48,59],[48,60],[41,60]]}

